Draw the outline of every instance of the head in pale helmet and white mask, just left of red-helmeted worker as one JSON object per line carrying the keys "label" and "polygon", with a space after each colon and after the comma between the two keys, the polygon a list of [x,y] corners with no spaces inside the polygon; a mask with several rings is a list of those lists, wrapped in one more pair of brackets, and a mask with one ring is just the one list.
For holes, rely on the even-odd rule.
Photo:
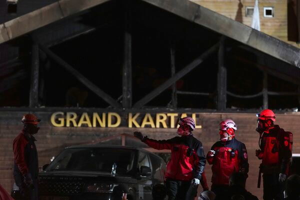
{"label": "head in pale helmet and white mask, just left of red-helmeted worker", "polygon": [[234,132],[237,128],[233,120],[231,119],[223,120],[220,122],[219,125],[220,125],[219,134],[220,134],[221,141],[227,141],[234,138],[235,136]]}

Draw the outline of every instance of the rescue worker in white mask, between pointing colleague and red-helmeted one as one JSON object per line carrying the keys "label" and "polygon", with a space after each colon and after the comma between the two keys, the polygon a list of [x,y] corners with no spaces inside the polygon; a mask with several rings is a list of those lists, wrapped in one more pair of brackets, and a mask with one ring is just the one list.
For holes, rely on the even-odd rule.
{"label": "rescue worker in white mask, between pointing colleague and red-helmeted one", "polygon": [[206,155],[207,162],[212,164],[211,191],[217,199],[224,199],[228,194],[229,176],[240,171],[247,177],[249,164],[244,143],[235,138],[236,124],[231,119],[220,122],[220,140],[211,146]]}

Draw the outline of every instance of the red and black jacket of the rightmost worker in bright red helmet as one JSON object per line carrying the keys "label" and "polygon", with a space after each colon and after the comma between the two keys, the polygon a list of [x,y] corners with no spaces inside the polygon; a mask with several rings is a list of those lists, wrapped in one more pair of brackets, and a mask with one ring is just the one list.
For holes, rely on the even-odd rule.
{"label": "red and black jacket of the rightmost worker in bright red helmet", "polygon": [[291,157],[288,132],[274,125],[268,132],[260,135],[259,146],[261,152],[258,158],[262,159],[261,172],[288,174]]}

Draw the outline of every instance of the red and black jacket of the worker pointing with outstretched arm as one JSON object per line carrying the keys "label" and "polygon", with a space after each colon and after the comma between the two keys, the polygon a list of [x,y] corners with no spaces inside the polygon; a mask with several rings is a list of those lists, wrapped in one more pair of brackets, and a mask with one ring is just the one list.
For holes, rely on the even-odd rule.
{"label": "red and black jacket of the worker pointing with outstretched arm", "polygon": [[165,177],[175,180],[201,179],[206,162],[202,143],[191,134],[167,140],[144,137],[143,142],[155,149],[170,149],[171,158],[166,165]]}

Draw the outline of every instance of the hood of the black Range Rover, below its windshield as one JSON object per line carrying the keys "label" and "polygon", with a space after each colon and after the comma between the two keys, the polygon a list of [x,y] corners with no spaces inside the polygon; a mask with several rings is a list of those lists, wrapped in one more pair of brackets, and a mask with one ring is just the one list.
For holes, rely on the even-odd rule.
{"label": "hood of the black Range Rover, below its windshield", "polygon": [[66,179],[92,179],[100,181],[112,181],[112,182],[127,182],[134,183],[137,181],[136,177],[118,175],[112,176],[111,173],[97,172],[97,171],[43,171],[39,172],[39,178],[61,178]]}

